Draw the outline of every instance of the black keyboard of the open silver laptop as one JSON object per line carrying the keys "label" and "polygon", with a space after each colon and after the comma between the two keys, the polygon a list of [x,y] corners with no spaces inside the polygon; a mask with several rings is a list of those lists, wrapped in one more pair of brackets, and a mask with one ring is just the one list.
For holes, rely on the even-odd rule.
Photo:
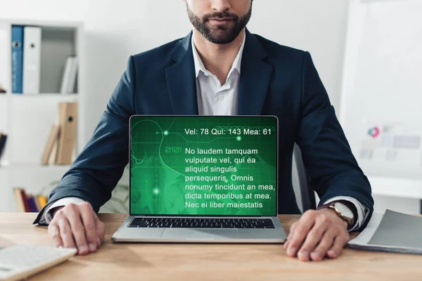
{"label": "black keyboard of the open silver laptop", "polygon": [[129,228],[275,228],[271,218],[134,218]]}

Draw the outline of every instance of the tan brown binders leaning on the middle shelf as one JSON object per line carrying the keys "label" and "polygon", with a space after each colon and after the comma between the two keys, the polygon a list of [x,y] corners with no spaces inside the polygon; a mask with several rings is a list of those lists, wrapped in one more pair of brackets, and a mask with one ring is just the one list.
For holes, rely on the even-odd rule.
{"label": "tan brown binders leaning on the middle shelf", "polygon": [[56,124],[51,127],[41,165],[72,164],[76,145],[77,103],[59,103]]}

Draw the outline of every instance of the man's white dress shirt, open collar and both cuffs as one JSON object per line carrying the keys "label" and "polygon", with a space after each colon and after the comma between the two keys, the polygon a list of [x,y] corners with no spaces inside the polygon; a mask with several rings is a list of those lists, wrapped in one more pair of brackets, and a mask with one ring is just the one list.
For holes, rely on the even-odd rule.
{"label": "man's white dress shirt, open collar and both cuffs", "polygon": [[[246,37],[243,39],[243,43],[236,55],[233,65],[231,66],[226,82],[222,85],[215,74],[212,74],[205,68],[192,38],[191,44],[193,50],[193,62],[195,63],[196,93],[198,98],[199,115],[237,114],[239,82],[241,79],[241,61],[243,48],[245,47],[245,39]],[[354,204],[357,209],[357,218],[355,219],[354,226],[350,229],[350,231],[359,228],[368,214],[368,211],[366,211],[364,206],[356,199],[347,196],[333,197],[324,202],[324,204],[336,200],[346,200]],[[65,206],[70,203],[80,204],[82,202],[84,202],[84,200],[77,197],[66,197],[57,200],[49,207],[44,216],[41,216],[41,218],[44,217],[45,221],[41,219],[40,223],[50,223],[52,219],[51,209]]]}

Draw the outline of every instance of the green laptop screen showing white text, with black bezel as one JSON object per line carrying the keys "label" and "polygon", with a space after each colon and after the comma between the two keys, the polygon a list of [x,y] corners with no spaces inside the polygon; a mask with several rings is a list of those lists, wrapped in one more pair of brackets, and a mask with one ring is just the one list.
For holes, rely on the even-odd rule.
{"label": "green laptop screen showing white text, with black bezel", "polygon": [[130,119],[130,214],[276,216],[278,121],[265,116]]}

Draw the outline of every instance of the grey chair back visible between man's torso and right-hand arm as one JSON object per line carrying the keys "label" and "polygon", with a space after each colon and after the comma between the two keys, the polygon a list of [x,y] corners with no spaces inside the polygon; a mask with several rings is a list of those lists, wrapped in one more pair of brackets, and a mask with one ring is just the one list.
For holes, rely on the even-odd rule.
{"label": "grey chair back visible between man's torso and right-hand arm", "polygon": [[303,164],[302,152],[296,143],[293,148],[292,185],[296,202],[302,214],[309,209],[316,209],[315,193]]}

